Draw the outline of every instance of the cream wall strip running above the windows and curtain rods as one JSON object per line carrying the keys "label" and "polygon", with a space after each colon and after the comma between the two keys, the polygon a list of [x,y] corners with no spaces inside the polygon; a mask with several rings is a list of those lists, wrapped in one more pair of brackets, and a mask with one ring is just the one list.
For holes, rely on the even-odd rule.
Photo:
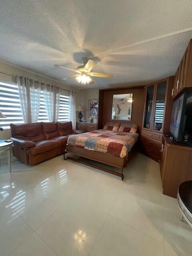
{"label": "cream wall strip running above the windows and curtain rods", "polygon": [[[34,74],[30,71],[24,70],[22,68],[18,68],[16,66],[12,66],[10,64],[6,64],[4,62],[0,62],[0,71],[7,72],[9,74],[19,75],[19,76],[26,76],[46,84],[56,85],[66,90],[74,90],[76,92],[76,104],[77,105],[80,104],[80,90],[78,90],[77,88],[68,86],[66,84],[62,84],[61,82],[58,82],[56,80],[52,80],[50,78],[46,78],[38,74]],[[0,73],[0,80],[4,80],[8,82],[16,82],[15,76],[9,76],[2,73]],[[0,131],[0,139],[7,139],[10,137],[11,137],[10,130]]]}

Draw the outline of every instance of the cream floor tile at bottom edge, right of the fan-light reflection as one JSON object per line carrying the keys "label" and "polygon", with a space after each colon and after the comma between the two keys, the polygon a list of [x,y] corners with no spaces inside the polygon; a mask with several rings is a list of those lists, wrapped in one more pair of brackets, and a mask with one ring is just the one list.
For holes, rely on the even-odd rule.
{"label": "cream floor tile at bottom edge, right of the fan-light reflection", "polygon": [[164,256],[164,245],[108,216],[90,254],[98,255]]}

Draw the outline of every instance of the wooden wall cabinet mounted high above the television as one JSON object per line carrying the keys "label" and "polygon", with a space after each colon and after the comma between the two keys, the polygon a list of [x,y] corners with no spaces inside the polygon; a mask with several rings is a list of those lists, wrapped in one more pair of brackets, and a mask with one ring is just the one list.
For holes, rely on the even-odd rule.
{"label": "wooden wall cabinet mounted high above the television", "polygon": [[187,87],[192,87],[192,40],[190,40],[176,71],[172,98],[175,98]]}

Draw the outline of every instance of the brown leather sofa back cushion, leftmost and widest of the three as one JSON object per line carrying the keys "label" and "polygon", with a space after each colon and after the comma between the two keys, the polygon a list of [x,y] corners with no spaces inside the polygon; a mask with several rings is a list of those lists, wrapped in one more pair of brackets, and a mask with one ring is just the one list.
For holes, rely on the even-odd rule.
{"label": "brown leather sofa back cushion, leftmost and widest of the three", "polygon": [[40,123],[33,124],[10,124],[11,134],[14,138],[22,140],[31,140],[33,142],[44,140]]}

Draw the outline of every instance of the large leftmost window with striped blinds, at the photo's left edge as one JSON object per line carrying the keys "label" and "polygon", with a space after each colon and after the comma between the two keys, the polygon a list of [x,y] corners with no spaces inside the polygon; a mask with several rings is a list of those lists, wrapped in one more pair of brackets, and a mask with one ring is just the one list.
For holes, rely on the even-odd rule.
{"label": "large leftmost window with striped blinds, at the photo's left edge", "polygon": [[0,82],[0,110],[6,116],[0,119],[2,128],[10,128],[10,123],[23,123],[17,85]]}

